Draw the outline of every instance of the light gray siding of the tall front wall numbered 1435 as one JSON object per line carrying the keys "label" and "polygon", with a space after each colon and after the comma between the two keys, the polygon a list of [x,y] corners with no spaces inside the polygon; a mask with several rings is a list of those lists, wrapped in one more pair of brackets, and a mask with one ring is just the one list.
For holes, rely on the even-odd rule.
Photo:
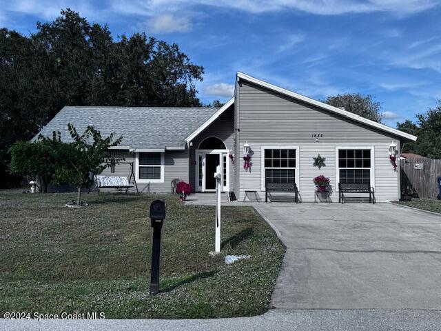
{"label": "light gray siding of the tall front wall numbered 1435", "polygon": [[[393,171],[388,154],[388,146],[393,140],[399,145],[397,137],[245,81],[240,81],[237,86],[236,103],[236,123],[240,129],[237,133],[240,175],[236,174],[240,185],[236,194],[239,197],[243,197],[245,190],[256,190],[263,197],[260,149],[268,145],[298,146],[298,186],[303,201],[314,201],[312,179],[320,174],[329,177],[336,189],[335,154],[338,146],[373,146],[378,201],[399,197],[398,172]],[[315,133],[323,134],[319,142],[311,137]],[[242,146],[245,141],[252,148],[252,169],[249,172],[243,170]],[[326,157],[326,167],[320,170],[312,165],[312,158],[318,153]],[[338,194],[334,194],[335,200],[338,201]]]}

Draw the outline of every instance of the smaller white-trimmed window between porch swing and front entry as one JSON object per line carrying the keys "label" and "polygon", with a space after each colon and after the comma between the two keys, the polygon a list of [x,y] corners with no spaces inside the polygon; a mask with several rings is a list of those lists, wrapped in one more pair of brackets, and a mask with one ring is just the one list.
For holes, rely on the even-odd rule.
{"label": "smaller white-trimmed window between porch swing and front entry", "polygon": [[139,152],[138,153],[138,180],[146,182],[163,181],[163,153]]}

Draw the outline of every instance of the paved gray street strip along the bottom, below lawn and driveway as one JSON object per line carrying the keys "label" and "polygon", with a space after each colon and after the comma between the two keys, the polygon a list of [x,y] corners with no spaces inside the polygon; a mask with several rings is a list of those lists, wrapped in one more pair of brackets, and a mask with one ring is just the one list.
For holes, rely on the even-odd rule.
{"label": "paved gray street strip along the bottom, below lawn and driveway", "polygon": [[433,310],[269,310],[257,317],[205,320],[0,320],[0,330],[12,331],[437,331],[440,325],[441,314]]}

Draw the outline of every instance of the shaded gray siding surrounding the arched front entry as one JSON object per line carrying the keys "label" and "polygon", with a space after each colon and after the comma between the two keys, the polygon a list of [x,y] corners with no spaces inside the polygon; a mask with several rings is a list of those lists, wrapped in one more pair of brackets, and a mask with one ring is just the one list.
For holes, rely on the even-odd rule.
{"label": "shaded gray siding surrounding the arched front entry", "polygon": [[[216,121],[210,124],[201,134],[198,135],[195,139],[193,139],[193,146],[190,147],[189,150],[189,170],[190,170],[190,183],[193,188],[196,188],[196,165],[194,164],[196,161],[195,153],[196,149],[198,149],[199,144],[205,138],[208,137],[216,137],[222,140],[225,143],[227,149],[234,149],[233,143],[233,119],[234,117],[234,107],[230,107],[228,110],[225,110],[223,114],[220,115]],[[228,159],[227,163],[229,164],[229,187],[230,190],[233,188],[234,183],[234,168],[232,167],[231,161]]]}

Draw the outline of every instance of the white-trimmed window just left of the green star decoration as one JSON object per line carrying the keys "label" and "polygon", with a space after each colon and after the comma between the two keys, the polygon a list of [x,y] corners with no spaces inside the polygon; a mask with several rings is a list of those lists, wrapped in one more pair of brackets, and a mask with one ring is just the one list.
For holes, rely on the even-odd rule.
{"label": "white-trimmed window just left of the green star decoration", "polygon": [[265,148],[263,171],[267,183],[296,182],[296,149]]}

